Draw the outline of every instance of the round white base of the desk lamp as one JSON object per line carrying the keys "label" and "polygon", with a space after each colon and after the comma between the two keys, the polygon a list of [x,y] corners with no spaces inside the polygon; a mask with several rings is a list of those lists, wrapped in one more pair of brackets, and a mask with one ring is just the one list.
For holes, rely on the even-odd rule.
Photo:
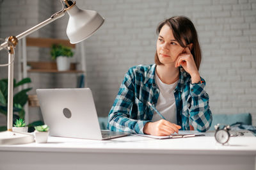
{"label": "round white base of the desk lamp", "polygon": [[10,131],[0,132],[0,144],[25,144],[33,142],[34,136],[32,134]]}

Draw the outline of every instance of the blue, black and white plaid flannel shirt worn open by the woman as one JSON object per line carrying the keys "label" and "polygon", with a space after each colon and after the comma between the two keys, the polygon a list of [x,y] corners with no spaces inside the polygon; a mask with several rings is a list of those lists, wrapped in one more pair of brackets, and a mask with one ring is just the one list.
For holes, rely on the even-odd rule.
{"label": "blue, black and white plaid flannel shirt worn open by the woman", "polygon": [[[156,65],[133,66],[125,74],[115,102],[108,115],[108,129],[143,134],[143,127],[152,120],[154,110],[147,105],[157,104],[159,89],[155,81]],[[189,73],[180,66],[179,81],[174,89],[177,124],[189,130],[189,123],[198,132],[207,131],[212,122],[209,95],[205,81],[191,84]]]}

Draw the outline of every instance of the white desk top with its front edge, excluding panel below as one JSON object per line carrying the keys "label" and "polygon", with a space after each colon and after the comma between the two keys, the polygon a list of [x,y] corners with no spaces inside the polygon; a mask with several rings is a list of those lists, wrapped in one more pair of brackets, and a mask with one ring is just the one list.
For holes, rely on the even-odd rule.
{"label": "white desk top with its front edge, excluding panel below", "polygon": [[49,137],[48,143],[30,143],[0,146],[0,151],[42,151],[76,153],[159,153],[159,154],[200,154],[200,155],[255,155],[256,137],[230,137],[227,145],[216,143],[214,133],[202,137],[180,139],[151,139],[130,135],[107,141]]}

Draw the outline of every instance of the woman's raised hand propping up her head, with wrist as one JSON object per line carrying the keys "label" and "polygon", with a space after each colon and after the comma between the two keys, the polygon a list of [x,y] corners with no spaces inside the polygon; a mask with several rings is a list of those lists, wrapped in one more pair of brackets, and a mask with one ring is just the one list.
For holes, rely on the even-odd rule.
{"label": "woman's raised hand propping up her head, with wrist", "polygon": [[196,68],[196,63],[191,54],[189,47],[185,47],[184,53],[179,54],[176,59],[175,67],[182,66],[186,72],[191,76],[192,83],[201,81],[200,74]]}

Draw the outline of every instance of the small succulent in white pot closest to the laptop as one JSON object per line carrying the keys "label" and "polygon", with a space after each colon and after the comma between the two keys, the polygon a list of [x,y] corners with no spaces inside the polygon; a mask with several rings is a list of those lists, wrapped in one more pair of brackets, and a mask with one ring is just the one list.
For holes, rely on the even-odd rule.
{"label": "small succulent in white pot closest to the laptop", "polygon": [[36,143],[47,143],[48,135],[49,135],[49,127],[47,125],[35,127]]}

